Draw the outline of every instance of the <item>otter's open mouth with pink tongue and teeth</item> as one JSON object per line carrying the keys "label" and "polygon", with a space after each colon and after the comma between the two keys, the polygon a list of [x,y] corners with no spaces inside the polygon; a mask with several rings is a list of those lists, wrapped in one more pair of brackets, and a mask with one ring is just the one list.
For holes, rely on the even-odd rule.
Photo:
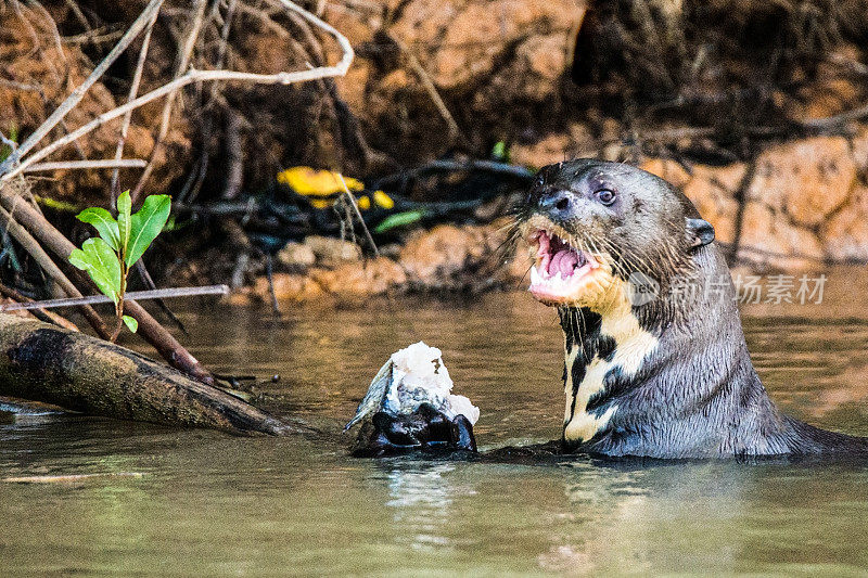
{"label": "otter's open mouth with pink tongue and teeth", "polygon": [[600,267],[597,259],[545,229],[533,231],[527,240],[536,246],[529,287],[534,297],[549,304],[578,299]]}

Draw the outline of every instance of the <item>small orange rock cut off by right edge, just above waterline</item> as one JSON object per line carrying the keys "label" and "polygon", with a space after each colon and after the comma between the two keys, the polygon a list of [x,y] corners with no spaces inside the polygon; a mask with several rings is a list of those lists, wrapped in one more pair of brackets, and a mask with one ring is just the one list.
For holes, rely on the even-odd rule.
{"label": "small orange rock cut off by right edge, just above waterline", "polygon": [[833,260],[868,260],[868,187],[859,185],[853,196],[820,229],[826,255]]}

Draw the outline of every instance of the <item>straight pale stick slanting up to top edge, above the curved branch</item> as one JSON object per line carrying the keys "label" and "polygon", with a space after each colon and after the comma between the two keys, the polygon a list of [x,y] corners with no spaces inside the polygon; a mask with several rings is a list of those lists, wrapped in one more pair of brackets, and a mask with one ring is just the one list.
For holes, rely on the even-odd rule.
{"label": "straight pale stick slanting up to top edge, above the curved branch", "polygon": [[[51,131],[51,129],[53,129],[58,123],[60,123],[69,113],[69,111],[81,101],[82,98],[85,98],[85,93],[88,91],[88,89],[93,86],[93,84],[97,82],[97,80],[99,80],[103,74],[105,74],[105,70],[108,69],[108,67],[117,60],[120,53],[127,49],[127,47],[139,35],[142,28],[148,25],[148,23],[151,21],[151,17],[156,14],[162,4],[163,0],[151,0],[148,3],[148,7],[145,7],[139,17],[136,18],[136,22],[133,22],[129,27],[127,34],[125,34],[118,43],[115,44],[108,55],[105,56],[105,59],[103,59],[103,61],[97,65],[95,68],[93,68],[93,72],[90,73],[85,81],[81,82],[81,85],[79,85],[72,94],[66,97],[66,100],[63,101],[63,103],[61,103],[61,105],[58,106],[53,113],[51,113],[46,121],[42,123],[39,128],[37,128],[34,133],[22,143],[15,153],[11,154],[9,158],[0,164],[0,175],[2,175],[4,178],[10,176],[9,171],[11,167],[18,163],[25,154],[29,153],[34,146],[39,144],[39,141],[41,141]],[[75,131],[72,132],[72,134],[74,133]],[[68,138],[69,134],[66,137]],[[76,139],[71,139],[67,141],[67,143]]]}

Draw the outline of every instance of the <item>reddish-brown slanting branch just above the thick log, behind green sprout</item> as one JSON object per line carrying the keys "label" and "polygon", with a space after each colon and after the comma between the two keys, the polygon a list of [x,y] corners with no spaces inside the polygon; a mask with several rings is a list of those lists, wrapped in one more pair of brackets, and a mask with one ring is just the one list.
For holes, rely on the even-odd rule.
{"label": "reddish-brown slanting branch just above the thick log, behind green sprout", "polygon": [[[58,257],[68,259],[69,254],[76,248],[63,233],[58,231],[53,224],[46,220],[41,213],[29,204],[22,202],[21,197],[10,191],[9,188],[0,187],[0,205],[5,207],[10,213],[14,211],[15,219],[39,237],[39,241]],[[84,272],[77,271],[77,274],[82,283],[95,287]],[[72,288],[75,290],[75,287]],[[77,292],[78,290],[75,291]],[[81,293],[79,292],[71,296],[78,297],[80,295]],[[125,301],[124,307],[125,312],[139,322],[139,335],[150,343],[166,361],[203,383],[209,385],[214,384],[214,377],[202,367],[199,360],[190,355],[190,352],[139,304],[136,301]],[[90,319],[88,319],[88,321],[90,321]],[[105,324],[102,325],[102,330],[98,329],[97,331],[103,338],[107,339],[111,336],[111,332],[105,327]]]}

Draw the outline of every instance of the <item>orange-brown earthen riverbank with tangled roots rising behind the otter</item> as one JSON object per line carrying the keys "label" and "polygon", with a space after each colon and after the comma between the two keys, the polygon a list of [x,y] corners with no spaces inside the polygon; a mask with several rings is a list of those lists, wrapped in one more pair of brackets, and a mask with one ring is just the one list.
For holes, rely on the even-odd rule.
{"label": "orange-brown earthen riverbank with tangled roots rising behind the otter", "polygon": [[[231,280],[248,286],[239,295],[265,295],[263,231],[243,205],[285,202],[268,194],[288,167],[336,169],[373,183],[432,159],[486,158],[498,146],[505,159],[533,168],[574,156],[649,168],[685,189],[733,264],[789,270],[868,260],[863,0],[302,4],[352,42],[356,60],[346,77],[191,87],[159,145],[162,103],[132,115],[125,154],[154,159],[145,192],[173,194],[179,204],[242,206],[219,218],[179,215],[177,230],[148,257],[164,281]],[[33,131],[142,5],[89,0],[42,10],[15,2],[0,12],[0,131]],[[177,74],[195,5],[167,1],[161,11],[142,91]],[[190,66],[275,73],[340,55],[332,39],[277,4],[233,5],[202,12]],[[127,99],[141,42],[52,137]],[[118,130],[106,124],[58,158],[108,157]],[[108,205],[110,171],[46,176],[34,190],[47,200]],[[120,188],[139,177],[122,170]],[[449,194],[424,182],[400,192],[418,201]],[[72,237],[88,234],[72,210],[49,204],[46,211]],[[329,242],[301,233],[289,234],[283,248],[284,239],[269,240],[265,253],[278,255],[273,284],[288,299],[478,291],[523,274],[501,262],[514,259],[496,251],[499,224],[486,224],[495,217],[476,224],[444,219],[429,232],[378,239],[384,256],[376,260],[359,260],[346,247],[335,260],[314,246]]]}

